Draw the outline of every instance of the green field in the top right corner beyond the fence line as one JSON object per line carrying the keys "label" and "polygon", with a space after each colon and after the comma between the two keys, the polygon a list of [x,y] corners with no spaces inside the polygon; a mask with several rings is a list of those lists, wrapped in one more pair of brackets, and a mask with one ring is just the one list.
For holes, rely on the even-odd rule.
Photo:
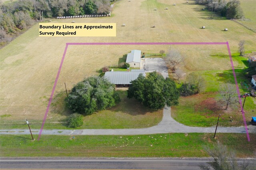
{"label": "green field in the top right corner beyond the fence line", "polygon": [[256,0],[240,0],[240,2],[246,19],[240,22],[256,31]]}

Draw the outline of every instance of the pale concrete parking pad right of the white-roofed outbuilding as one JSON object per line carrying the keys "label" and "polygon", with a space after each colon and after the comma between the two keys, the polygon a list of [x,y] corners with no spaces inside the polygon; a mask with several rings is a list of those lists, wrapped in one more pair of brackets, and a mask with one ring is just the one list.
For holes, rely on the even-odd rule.
{"label": "pale concrete parking pad right of the white-roofed outbuilding", "polygon": [[146,58],[144,59],[144,70],[146,72],[160,72],[164,78],[168,77],[167,66],[162,58]]}

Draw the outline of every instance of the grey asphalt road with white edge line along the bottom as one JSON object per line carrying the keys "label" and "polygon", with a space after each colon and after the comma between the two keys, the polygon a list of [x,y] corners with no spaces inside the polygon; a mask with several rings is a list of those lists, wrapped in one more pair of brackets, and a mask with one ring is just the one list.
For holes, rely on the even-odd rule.
{"label": "grey asphalt road with white edge line along the bottom", "polygon": [[[1,158],[1,170],[199,170],[209,158]],[[238,160],[252,162],[252,160]]]}

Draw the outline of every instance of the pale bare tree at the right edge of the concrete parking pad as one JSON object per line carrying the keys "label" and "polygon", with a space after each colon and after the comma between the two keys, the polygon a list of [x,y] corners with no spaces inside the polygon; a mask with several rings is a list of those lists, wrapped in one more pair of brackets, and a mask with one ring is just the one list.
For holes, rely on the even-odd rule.
{"label": "pale bare tree at the right edge of the concrete parking pad", "polygon": [[170,66],[172,70],[175,70],[175,66],[182,62],[182,56],[176,49],[169,50],[165,58],[166,64]]}

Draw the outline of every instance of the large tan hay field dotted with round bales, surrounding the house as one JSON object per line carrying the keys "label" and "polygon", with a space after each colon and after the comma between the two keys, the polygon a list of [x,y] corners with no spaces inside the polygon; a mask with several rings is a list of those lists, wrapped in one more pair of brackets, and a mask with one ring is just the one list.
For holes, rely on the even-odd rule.
{"label": "large tan hay field dotted with round bales, surrounding the house", "polygon": [[[172,6],[176,3],[176,6]],[[169,10],[164,10],[166,7]],[[154,8],[158,10],[154,11]],[[188,13],[189,12],[189,13]],[[255,50],[256,34],[242,25],[216,17],[194,1],[136,0],[116,2],[108,18],[52,19],[52,23],[72,20],[81,23],[116,23],[116,37],[38,37],[38,24],[0,50],[0,115],[2,121],[42,120],[67,42],[226,42],[232,53],[246,40],[246,50]],[[126,26],[121,25],[125,23]],[[156,25],[156,28],[152,28]],[[200,29],[202,26],[206,29]],[[224,28],[229,31],[222,31]],[[55,95],[70,90],[84,77],[98,75],[106,65],[117,64],[132,49],[146,53],[167,51],[169,45],[70,45],[60,72]],[[186,56],[187,72],[230,70],[226,45],[172,45]],[[223,54],[219,56],[216,54]],[[234,62],[239,65],[238,61]],[[63,108],[61,108],[63,109]],[[61,109],[58,111],[60,112]],[[4,115],[4,116],[3,116]],[[6,116],[8,115],[8,116]],[[62,121],[66,114],[51,106],[47,121]]]}

